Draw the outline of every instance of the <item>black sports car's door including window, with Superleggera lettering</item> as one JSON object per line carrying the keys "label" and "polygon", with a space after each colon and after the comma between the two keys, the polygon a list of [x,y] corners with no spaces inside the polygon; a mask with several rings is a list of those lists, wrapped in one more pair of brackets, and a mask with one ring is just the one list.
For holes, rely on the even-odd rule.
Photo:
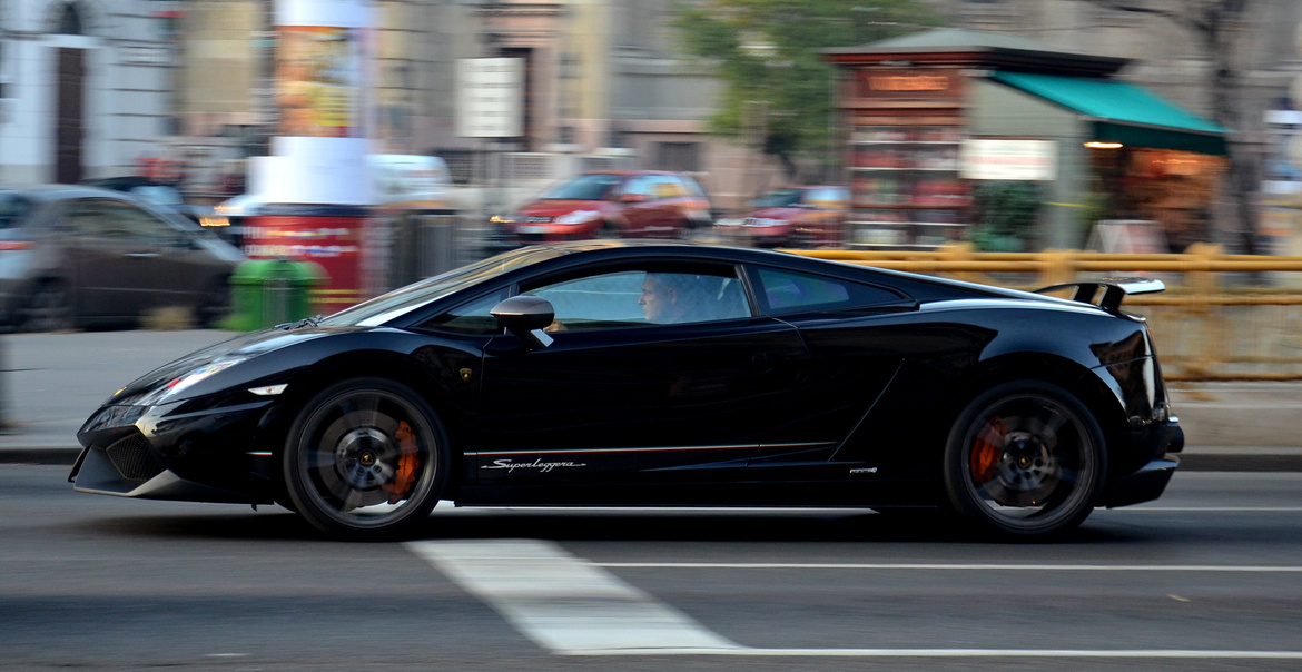
{"label": "black sports car's door including window, with Superleggera lettering", "polygon": [[[700,283],[673,301],[693,310],[654,314],[652,279]],[[788,422],[805,346],[755,314],[730,266],[602,267],[522,290],[552,303],[553,343],[490,344],[482,484],[727,482]]]}

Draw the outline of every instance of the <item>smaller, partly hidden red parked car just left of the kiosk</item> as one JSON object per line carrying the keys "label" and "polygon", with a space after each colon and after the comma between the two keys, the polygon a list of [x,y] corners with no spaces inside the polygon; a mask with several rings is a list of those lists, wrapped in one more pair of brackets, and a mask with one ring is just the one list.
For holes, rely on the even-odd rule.
{"label": "smaller, partly hidden red parked car just left of the kiosk", "polygon": [[724,236],[756,247],[840,247],[850,190],[845,186],[786,186],[750,202],[743,219],[720,220]]}

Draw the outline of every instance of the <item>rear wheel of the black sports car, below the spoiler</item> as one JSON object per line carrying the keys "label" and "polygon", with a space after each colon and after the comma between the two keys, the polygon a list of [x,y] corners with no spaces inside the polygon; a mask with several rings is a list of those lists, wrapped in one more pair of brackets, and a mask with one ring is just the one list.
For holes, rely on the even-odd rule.
{"label": "rear wheel of the black sports car, below the spoiler", "polygon": [[1066,389],[1013,380],[958,414],[944,456],[949,504],[1012,538],[1069,531],[1094,511],[1108,473],[1103,431]]}

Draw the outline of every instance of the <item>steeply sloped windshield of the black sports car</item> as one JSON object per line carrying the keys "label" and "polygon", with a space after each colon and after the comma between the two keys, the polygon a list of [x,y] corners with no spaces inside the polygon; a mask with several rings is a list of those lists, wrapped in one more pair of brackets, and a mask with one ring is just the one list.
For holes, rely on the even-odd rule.
{"label": "steeply sloped windshield of the black sports car", "polygon": [[564,253],[551,247],[525,247],[478,263],[464,266],[447,273],[395,289],[353,307],[341,310],[320,324],[331,327],[375,327],[400,318],[426,303],[453,292],[497,277],[516,268],[556,258]]}

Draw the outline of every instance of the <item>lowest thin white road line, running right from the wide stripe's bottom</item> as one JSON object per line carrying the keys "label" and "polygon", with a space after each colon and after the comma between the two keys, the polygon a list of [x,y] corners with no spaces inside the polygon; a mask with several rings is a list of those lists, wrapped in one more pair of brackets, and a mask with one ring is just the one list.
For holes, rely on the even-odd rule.
{"label": "lowest thin white road line, running right from the wide stripe's bottom", "polygon": [[1217,649],[673,649],[565,651],[568,655],[727,655],[767,658],[1113,658],[1186,660],[1302,660],[1302,651],[1230,651]]}

